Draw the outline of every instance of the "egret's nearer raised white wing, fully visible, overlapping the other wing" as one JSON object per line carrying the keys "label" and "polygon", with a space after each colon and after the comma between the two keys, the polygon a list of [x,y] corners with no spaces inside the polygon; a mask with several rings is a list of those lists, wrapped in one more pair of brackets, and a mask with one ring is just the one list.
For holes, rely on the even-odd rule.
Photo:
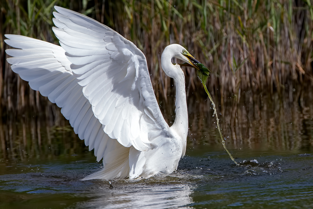
{"label": "egret's nearer raised white wing, fully visible, overlapping the other wing", "polygon": [[139,151],[150,150],[151,127],[168,129],[151,85],[146,58],[107,26],[55,7],[53,28],[94,115],[110,138]]}

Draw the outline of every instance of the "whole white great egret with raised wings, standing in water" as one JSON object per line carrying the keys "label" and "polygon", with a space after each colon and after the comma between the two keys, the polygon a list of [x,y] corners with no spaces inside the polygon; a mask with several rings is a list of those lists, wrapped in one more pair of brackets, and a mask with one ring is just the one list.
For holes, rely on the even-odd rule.
{"label": "whole white great egret with raised wings, standing in water", "polygon": [[54,7],[54,34],[60,45],[5,35],[7,61],[29,86],[61,107],[74,132],[95,149],[103,168],[89,179],[148,178],[172,173],[186,151],[188,114],[185,76],[172,58],[197,68],[179,44],[162,53],[162,69],[175,81],[175,122],[159,109],[146,57],[109,27],[69,9]]}

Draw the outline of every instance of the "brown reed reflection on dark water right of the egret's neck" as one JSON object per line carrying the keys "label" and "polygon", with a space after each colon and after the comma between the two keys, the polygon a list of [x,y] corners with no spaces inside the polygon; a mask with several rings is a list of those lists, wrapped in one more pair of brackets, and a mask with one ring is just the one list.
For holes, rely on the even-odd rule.
{"label": "brown reed reflection on dark water right of the egret's neck", "polygon": [[[311,151],[313,147],[313,86],[286,88],[284,92],[242,92],[236,98],[213,100],[228,147]],[[220,97],[218,97],[220,98]],[[237,96],[238,98],[238,96]],[[220,143],[210,101],[190,100],[190,141]],[[213,125],[212,125],[213,124]]]}

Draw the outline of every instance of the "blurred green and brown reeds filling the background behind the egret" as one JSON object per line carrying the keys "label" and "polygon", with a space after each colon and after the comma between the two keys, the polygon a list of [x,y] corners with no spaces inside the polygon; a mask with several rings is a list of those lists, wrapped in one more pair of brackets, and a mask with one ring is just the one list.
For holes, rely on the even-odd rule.
{"label": "blurred green and brown reeds filling the background behind the egret", "polygon": [[[51,134],[77,137],[68,128],[69,123],[61,115],[59,108],[38,92],[32,91],[27,82],[14,74],[5,61],[5,49],[8,46],[3,41],[4,34],[21,34],[58,44],[51,29],[54,26],[54,5],[83,13],[108,25],[142,50],[147,58],[156,97],[168,123],[174,118],[173,81],[165,76],[160,65],[162,51],[168,44],[185,46],[211,70],[208,89],[218,102],[221,114],[229,113],[230,118],[224,119],[225,130],[229,128],[234,138],[234,129],[241,120],[238,119],[238,114],[243,114],[241,121],[246,123],[241,128],[251,126],[249,119],[247,120],[249,111],[245,114],[247,109],[237,108],[240,102],[255,103],[260,109],[263,108],[263,100],[256,95],[265,95],[269,100],[291,95],[288,97],[290,102],[298,102],[299,98],[304,97],[301,92],[307,89],[310,91],[313,81],[311,0],[0,2],[0,114],[2,124],[6,124],[0,127],[3,152],[8,152],[6,149],[14,145],[10,138],[17,136],[20,136],[19,140],[24,147],[27,146],[28,138],[35,140],[35,144],[40,147],[41,130],[46,127],[55,127],[53,130],[57,130],[47,128],[49,144]],[[197,108],[204,114],[212,115],[209,113],[211,110],[207,96],[194,69],[186,68],[186,86],[187,98],[191,101],[188,105],[190,114],[196,112],[193,109]],[[302,96],[292,97],[295,86],[297,95]],[[282,110],[290,106],[277,100],[280,101],[278,103]],[[195,104],[197,101],[200,101],[199,104]],[[228,112],[226,103],[230,103],[231,112]],[[283,119],[287,116],[279,117]],[[191,117],[190,120],[193,119]],[[18,120],[21,122],[19,124],[23,124],[22,128],[14,128]],[[191,122],[193,123],[198,121]],[[223,127],[223,122],[221,126]],[[251,133],[248,133],[248,137],[251,138]]]}

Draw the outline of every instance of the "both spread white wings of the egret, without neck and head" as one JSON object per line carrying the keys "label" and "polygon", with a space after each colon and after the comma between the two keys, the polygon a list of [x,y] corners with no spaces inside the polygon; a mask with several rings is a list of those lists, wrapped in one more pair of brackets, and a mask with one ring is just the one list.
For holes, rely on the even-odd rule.
{"label": "both spread white wings of the egret, without neck and head", "polygon": [[[129,168],[123,167],[129,147],[147,151],[162,139],[149,136],[169,134],[146,58],[107,26],[68,9],[55,9],[53,31],[62,47],[6,35],[6,43],[18,48],[6,50],[13,56],[8,62],[32,89],[62,107],[75,133],[90,150],[95,148],[98,161],[116,164],[113,177],[107,178],[126,177]],[[129,162],[130,167],[131,163],[136,162]]]}

